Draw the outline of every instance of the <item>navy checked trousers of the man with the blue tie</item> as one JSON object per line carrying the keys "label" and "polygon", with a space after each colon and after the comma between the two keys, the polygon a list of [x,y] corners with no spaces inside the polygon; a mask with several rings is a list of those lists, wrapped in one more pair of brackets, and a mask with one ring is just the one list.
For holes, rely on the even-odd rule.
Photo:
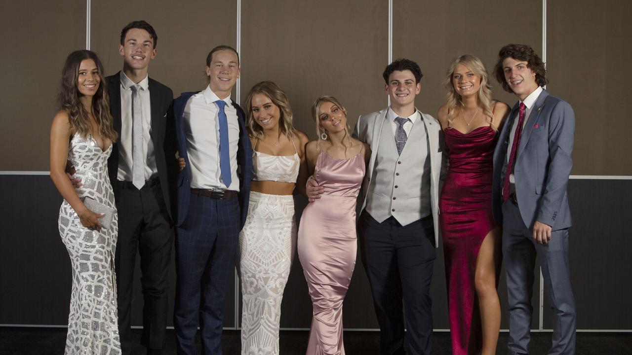
{"label": "navy checked trousers of the man with the blue tie", "polygon": [[198,321],[202,354],[222,353],[224,298],[240,231],[237,197],[214,200],[191,195],[188,215],[176,235],[174,328],[178,354],[197,354]]}

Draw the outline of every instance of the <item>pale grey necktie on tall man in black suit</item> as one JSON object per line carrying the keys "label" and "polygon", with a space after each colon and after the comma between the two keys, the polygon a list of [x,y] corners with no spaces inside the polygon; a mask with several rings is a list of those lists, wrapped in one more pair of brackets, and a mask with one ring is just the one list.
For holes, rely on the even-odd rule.
{"label": "pale grey necktie on tall man in black suit", "polygon": [[131,183],[140,190],[145,186],[145,152],[143,149],[143,107],[140,85],[131,85]]}

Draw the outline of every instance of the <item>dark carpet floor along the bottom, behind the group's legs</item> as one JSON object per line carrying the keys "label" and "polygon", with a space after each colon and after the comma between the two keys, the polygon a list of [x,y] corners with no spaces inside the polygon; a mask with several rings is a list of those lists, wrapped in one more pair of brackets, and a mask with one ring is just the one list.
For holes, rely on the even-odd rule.
{"label": "dark carpet floor along the bottom, behind the group's legs", "polygon": [[[133,330],[135,355],[144,355],[145,348],[138,345],[142,330]],[[506,354],[507,333],[501,333],[497,354]],[[308,332],[298,330],[281,331],[281,355],[303,355],[307,346]],[[550,333],[533,333],[530,351],[534,355],[546,354],[550,346]],[[18,328],[0,327],[0,355],[62,355],[66,341],[65,328]],[[199,346],[199,339],[198,339]],[[224,355],[240,354],[240,333],[225,330],[222,338]],[[347,355],[378,354],[378,332],[345,332],[344,347]],[[176,354],[173,330],[167,331],[164,355]],[[432,354],[449,355],[450,335],[446,332],[434,334]],[[632,333],[578,333],[576,355],[628,355],[632,354]]]}

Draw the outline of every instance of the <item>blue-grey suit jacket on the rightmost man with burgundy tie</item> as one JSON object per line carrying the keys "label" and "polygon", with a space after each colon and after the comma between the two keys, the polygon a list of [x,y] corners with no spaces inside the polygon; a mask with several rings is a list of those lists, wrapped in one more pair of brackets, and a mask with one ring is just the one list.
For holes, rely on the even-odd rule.
{"label": "blue-grey suit jacket on the rightmost man with burgundy tie", "polygon": [[[518,103],[509,112],[494,150],[494,218],[502,224],[502,184],[507,161],[509,132],[518,112]],[[573,167],[571,153],[575,116],[568,102],[543,90],[535,101],[520,138],[514,177],[518,208],[529,229],[536,220],[552,230],[570,227],[571,211],[566,186]]]}

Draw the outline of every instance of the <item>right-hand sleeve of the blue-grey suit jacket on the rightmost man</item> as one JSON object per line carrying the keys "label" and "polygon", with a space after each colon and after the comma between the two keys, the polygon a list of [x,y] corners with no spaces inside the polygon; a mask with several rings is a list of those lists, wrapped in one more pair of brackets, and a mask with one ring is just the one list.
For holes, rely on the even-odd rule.
{"label": "right-hand sleeve of the blue-grey suit jacket on the rightmost man", "polygon": [[560,101],[551,111],[549,120],[549,171],[537,220],[549,226],[555,222],[568,186],[568,177],[573,167],[573,143],[575,114],[568,102]]}

